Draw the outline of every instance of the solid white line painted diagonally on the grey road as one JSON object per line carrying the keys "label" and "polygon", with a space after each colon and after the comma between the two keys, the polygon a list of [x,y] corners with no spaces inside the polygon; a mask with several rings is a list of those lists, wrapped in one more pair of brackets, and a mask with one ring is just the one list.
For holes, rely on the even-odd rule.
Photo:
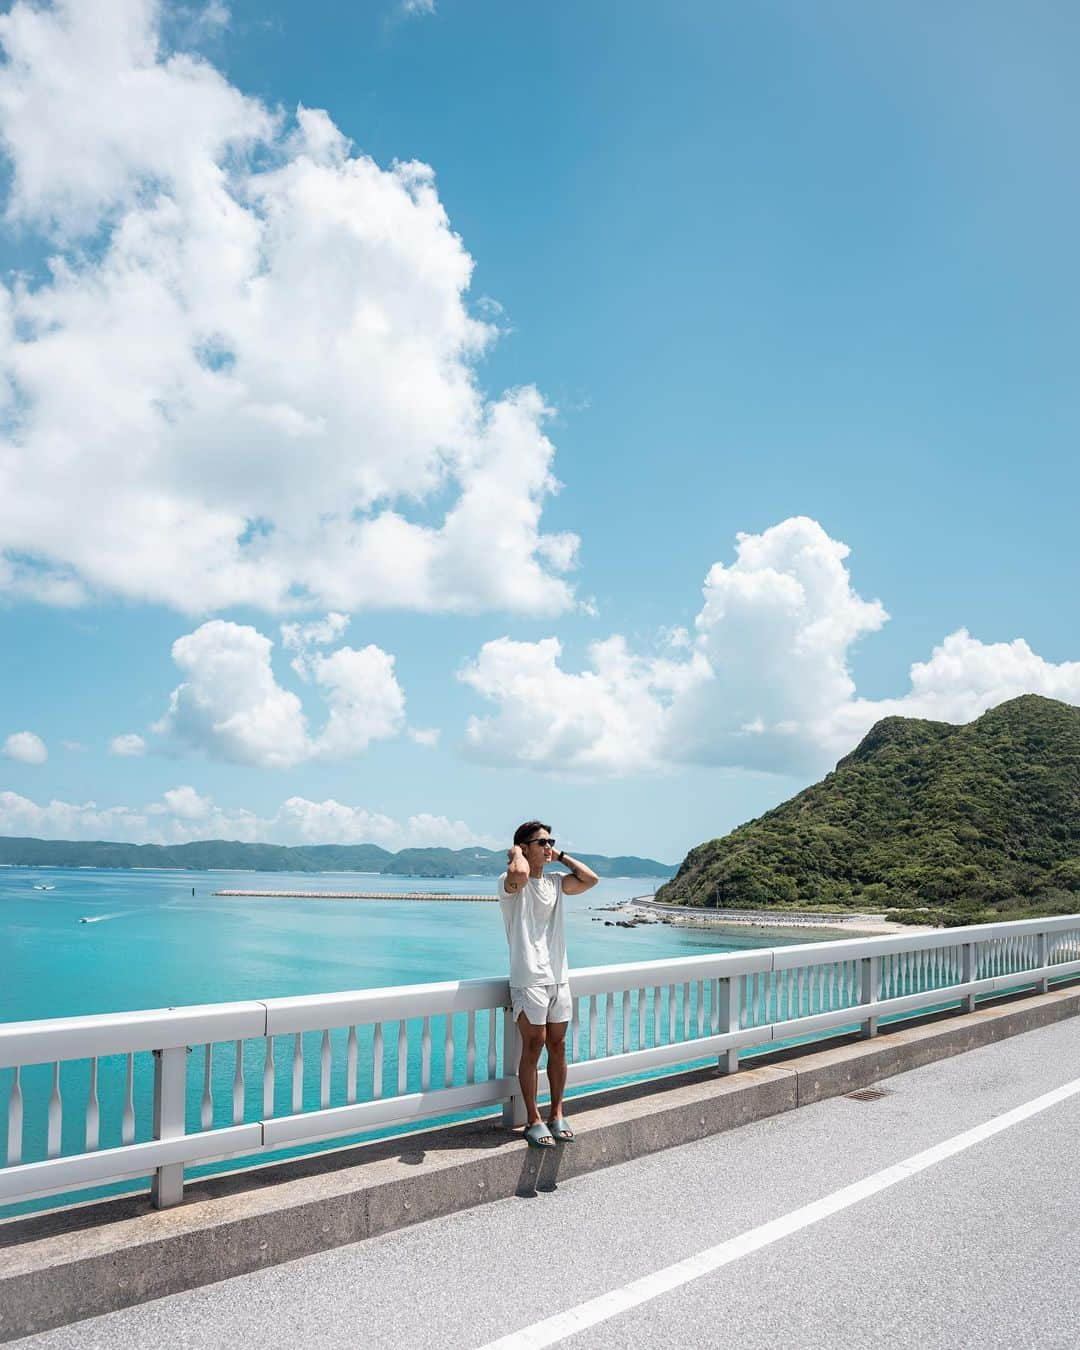
{"label": "solid white line painted diagonally on the grey road", "polygon": [[884,1168],[861,1181],[833,1191],[832,1195],[814,1200],[813,1204],[805,1204],[801,1210],[792,1210],[791,1214],[784,1214],[779,1219],[751,1228],[749,1233],[742,1233],[737,1238],[729,1238],[714,1247],[706,1247],[705,1251],[664,1266],[663,1270],[643,1276],[640,1280],[632,1280],[621,1289],[612,1289],[609,1293],[589,1299],[587,1303],[580,1303],[567,1312],[559,1312],[554,1318],[545,1318],[543,1322],[535,1322],[531,1327],[522,1327],[521,1331],[513,1331],[508,1336],[491,1341],[481,1350],[536,1350],[540,1346],[556,1345],[578,1331],[585,1331],[586,1327],[594,1327],[599,1322],[608,1322],[609,1318],[617,1318],[628,1308],[648,1303],[670,1289],[698,1280],[721,1266],[730,1265],[732,1261],[738,1261],[740,1257],[760,1251],[761,1247],[779,1242],[780,1238],[798,1233],[801,1228],[809,1228],[813,1223],[819,1223],[841,1210],[859,1204],[860,1200],[887,1191],[898,1181],[925,1172],[926,1168],[944,1162],[945,1158],[952,1158],[957,1153],[981,1143],[983,1139],[990,1139],[995,1134],[1000,1134],[1002,1130],[1008,1130],[1014,1125],[1038,1115],[1040,1111],[1046,1111],[1049,1107],[1076,1096],[1077,1092],[1080,1092],[1080,1079],[1073,1079],[1072,1083],[1065,1083],[1062,1087],[1054,1088],[1053,1092],[1045,1092],[1013,1111],[995,1115],[986,1123],[976,1125],[973,1130],[956,1134],[952,1139],[945,1139],[944,1143],[936,1143],[932,1149],[915,1153],[903,1162],[895,1162],[891,1168]]}

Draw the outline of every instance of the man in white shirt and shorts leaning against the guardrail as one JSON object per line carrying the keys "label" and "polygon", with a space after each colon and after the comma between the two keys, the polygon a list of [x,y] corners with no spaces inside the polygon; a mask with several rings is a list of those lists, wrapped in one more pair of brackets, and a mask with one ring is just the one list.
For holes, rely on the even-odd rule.
{"label": "man in white shirt and shorts leaning against the guardrail", "polygon": [[[552,860],[570,868],[570,876],[544,876]],[[535,1149],[552,1149],[574,1138],[563,1115],[566,1088],[566,1029],[570,1023],[570,969],[566,960],[563,896],[580,895],[597,884],[595,872],[558,850],[551,826],[525,821],[514,830],[506,855],[506,871],[498,882],[498,900],[506,941],[510,945],[510,1004],[521,1033],[517,1079],[525,1103],[525,1138]],[[540,1054],[547,1046],[551,1110],[548,1123],[536,1107]]]}

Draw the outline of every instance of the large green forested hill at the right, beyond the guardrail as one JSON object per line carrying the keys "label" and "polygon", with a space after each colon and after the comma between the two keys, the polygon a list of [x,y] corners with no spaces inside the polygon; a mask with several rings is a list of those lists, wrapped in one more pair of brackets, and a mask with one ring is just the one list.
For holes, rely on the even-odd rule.
{"label": "large green forested hill at the right, beyond the guardrail", "polygon": [[1080,911],[1080,709],[1026,694],[967,726],[887,717],[821,783],[693,849],[657,899],[944,923]]}

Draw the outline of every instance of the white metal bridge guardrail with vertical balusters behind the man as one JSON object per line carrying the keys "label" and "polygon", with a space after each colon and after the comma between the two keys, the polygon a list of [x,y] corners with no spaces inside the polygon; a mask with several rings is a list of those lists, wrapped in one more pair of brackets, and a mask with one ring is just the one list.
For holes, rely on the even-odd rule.
{"label": "white metal bridge guardrail with vertical balusters behind the man", "polygon": [[[568,1083],[734,1072],[740,1050],[1077,973],[1080,915],[574,971]],[[150,1176],[165,1207],[185,1165],[500,1104],[521,1123],[508,1002],[462,980],[0,1025],[0,1204]]]}

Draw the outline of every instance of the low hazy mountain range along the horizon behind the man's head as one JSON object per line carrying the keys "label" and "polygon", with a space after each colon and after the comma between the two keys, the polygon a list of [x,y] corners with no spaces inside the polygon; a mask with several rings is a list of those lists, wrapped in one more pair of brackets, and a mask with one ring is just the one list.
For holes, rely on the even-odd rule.
{"label": "low hazy mountain range along the horizon behind the man's head", "polygon": [[[578,855],[598,876],[671,876],[674,867],[651,857]],[[36,840],[0,836],[0,864],[12,867],[176,867],[238,872],[382,872],[393,876],[498,876],[505,849],[409,848],[390,853],[377,844],[108,844],[100,840]]]}

